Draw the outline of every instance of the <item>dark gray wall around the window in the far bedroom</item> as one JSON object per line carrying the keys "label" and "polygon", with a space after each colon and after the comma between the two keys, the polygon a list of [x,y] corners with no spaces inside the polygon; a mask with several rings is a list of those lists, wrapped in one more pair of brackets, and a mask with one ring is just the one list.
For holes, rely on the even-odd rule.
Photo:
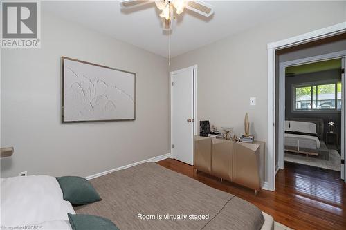
{"label": "dark gray wall around the window in the far bedroom", "polygon": [[[341,141],[341,111],[293,111],[292,102],[292,84],[300,84],[307,82],[318,82],[330,79],[341,80],[341,70],[327,70],[317,73],[307,73],[302,75],[296,75],[294,77],[286,77],[285,84],[285,116],[286,119],[291,118],[320,118],[325,123],[324,131],[329,131],[328,122],[333,120],[336,123],[335,131],[339,133],[339,143]],[[324,134],[325,138],[325,134]]]}

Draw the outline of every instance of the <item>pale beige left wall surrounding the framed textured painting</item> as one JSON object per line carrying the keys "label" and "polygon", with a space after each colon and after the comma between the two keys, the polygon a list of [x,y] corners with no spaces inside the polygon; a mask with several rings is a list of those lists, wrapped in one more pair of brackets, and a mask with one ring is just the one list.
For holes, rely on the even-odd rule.
{"label": "pale beige left wall surrounding the framed textured painting", "polygon": [[[136,73],[136,121],[61,124],[60,57]],[[167,154],[167,59],[63,21],[42,7],[42,48],[1,50],[1,177],[92,175]]]}

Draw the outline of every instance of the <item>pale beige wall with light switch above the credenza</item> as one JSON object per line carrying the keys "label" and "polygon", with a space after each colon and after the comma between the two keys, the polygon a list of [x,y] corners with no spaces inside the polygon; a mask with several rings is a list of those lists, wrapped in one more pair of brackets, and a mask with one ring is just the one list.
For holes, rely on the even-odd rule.
{"label": "pale beige wall with light switch above the credenza", "polygon": [[[302,13],[174,57],[171,70],[198,65],[197,125],[209,119],[218,127],[234,126],[239,136],[248,112],[251,134],[267,141],[267,44],[346,21],[345,10],[345,1],[316,2]],[[256,106],[249,106],[250,97],[257,98]]]}

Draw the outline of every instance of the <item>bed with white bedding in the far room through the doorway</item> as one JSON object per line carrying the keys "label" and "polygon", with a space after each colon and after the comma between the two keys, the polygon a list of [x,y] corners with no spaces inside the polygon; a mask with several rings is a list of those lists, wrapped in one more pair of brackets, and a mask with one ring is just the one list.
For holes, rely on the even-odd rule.
{"label": "bed with white bedding in the far room through the doorway", "polygon": [[285,121],[285,151],[315,155],[329,160],[323,139],[322,119],[289,119]]}

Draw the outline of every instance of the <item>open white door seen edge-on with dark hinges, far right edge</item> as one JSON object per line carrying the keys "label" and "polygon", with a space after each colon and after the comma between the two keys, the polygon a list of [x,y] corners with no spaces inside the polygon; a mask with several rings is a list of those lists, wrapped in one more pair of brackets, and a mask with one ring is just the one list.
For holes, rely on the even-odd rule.
{"label": "open white door seen edge-on with dark hinges, far right edge", "polygon": [[[346,124],[346,90],[345,90],[345,57],[341,59],[341,179],[345,180],[345,124]],[[346,180],[345,180],[346,182]]]}

